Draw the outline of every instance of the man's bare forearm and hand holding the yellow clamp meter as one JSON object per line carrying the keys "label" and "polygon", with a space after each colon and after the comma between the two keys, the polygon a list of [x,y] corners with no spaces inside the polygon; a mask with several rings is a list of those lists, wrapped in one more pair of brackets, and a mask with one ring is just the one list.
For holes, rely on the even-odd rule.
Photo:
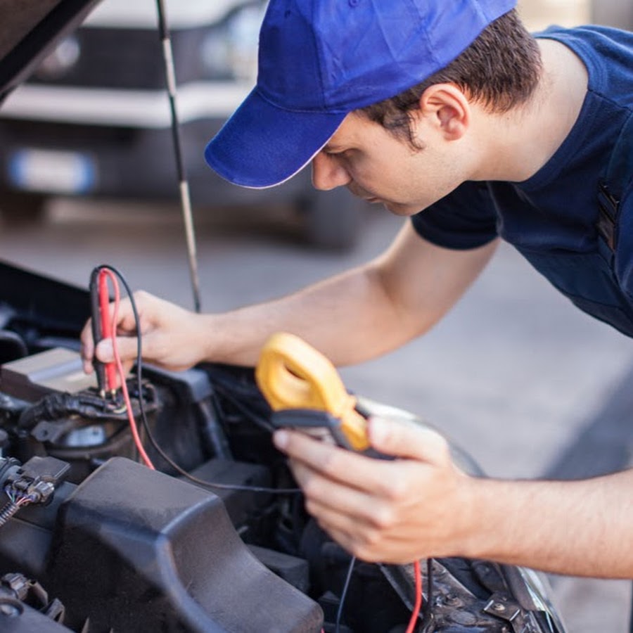
{"label": "man's bare forearm and hand holding the yellow clamp meter", "polygon": [[633,577],[633,470],[573,482],[471,478],[427,428],[372,421],[378,461],[276,434],[306,506],[348,551],[409,563],[465,556],[554,573]]}

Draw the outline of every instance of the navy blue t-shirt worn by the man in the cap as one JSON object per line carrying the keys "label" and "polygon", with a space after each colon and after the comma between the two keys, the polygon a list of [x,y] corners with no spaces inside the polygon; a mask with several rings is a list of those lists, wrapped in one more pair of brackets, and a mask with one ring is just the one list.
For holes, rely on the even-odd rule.
{"label": "navy blue t-shirt worn by the man in the cap", "polygon": [[568,137],[530,179],[466,182],[412,222],[418,234],[446,248],[475,248],[500,236],[580,309],[633,336],[633,172],[615,187],[621,193],[615,250],[596,228],[599,182],[633,121],[633,33],[552,27],[537,37],[560,41],[587,67],[587,96]]}

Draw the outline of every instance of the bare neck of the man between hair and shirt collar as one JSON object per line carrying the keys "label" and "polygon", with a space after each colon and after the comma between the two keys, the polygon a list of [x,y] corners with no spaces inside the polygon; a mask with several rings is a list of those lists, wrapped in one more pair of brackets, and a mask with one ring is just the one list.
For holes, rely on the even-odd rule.
{"label": "bare neck of the man between hair and shirt collar", "polygon": [[473,180],[520,182],[538,172],[570,133],[587,94],[587,69],[554,40],[539,39],[543,72],[528,103],[504,115],[480,111],[482,168]]}

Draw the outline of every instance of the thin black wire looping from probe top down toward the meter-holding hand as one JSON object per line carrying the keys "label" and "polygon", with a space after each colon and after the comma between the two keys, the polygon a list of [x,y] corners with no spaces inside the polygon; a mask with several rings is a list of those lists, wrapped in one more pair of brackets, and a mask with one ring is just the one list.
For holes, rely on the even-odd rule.
{"label": "thin black wire looping from probe top down toward the meter-holding hand", "polygon": [[[300,488],[269,488],[262,486],[246,486],[246,485],[237,485],[237,484],[222,484],[211,481],[205,481],[203,479],[199,479],[194,475],[191,475],[184,468],[178,466],[176,462],[174,462],[169,455],[165,453],[165,451],[160,447],[158,442],[155,440],[155,437],[152,433],[152,430],[147,421],[147,416],[145,413],[145,407],[143,406],[143,384],[141,381],[141,376],[143,372],[143,361],[142,361],[142,344],[141,344],[141,321],[139,319],[139,312],[136,309],[136,302],[134,302],[134,296],[132,294],[132,290],[130,289],[127,281],[125,281],[124,276],[112,266],[102,265],[98,266],[97,269],[108,269],[112,271],[120,280],[127,292],[127,296],[129,298],[129,302],[132,305],[132,314],[134,314],[134,322],[136,323],[136,385],[139,391],[139,411],[141,413],[141,421],[143,422],[143,428],[147,434],[148,440],[151,442],[151,445],[155,448],[156,452],[164,459],[173,469],[177,471],[179,475],[182,475],[186,479],[204,487],[210,488],[219,488],[220,490],[237,490],[240,492],[265,492],[267,494],[298,494],[301,492]],[[113,332],[113,335],[116,335],[116,332]],[[123,377],[121,378],[123,380]]]}

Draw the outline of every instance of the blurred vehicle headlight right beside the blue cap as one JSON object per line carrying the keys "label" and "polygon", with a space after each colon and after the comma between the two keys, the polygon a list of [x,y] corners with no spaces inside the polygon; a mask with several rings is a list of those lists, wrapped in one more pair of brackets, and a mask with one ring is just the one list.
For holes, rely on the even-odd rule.
{"label": "blurred vehicle headlight right beside the blue cap", "polygon": [[203,39],[203,68],[213,79],[255,82],[257,43],[266,4],[248,4],[231,13]]}

